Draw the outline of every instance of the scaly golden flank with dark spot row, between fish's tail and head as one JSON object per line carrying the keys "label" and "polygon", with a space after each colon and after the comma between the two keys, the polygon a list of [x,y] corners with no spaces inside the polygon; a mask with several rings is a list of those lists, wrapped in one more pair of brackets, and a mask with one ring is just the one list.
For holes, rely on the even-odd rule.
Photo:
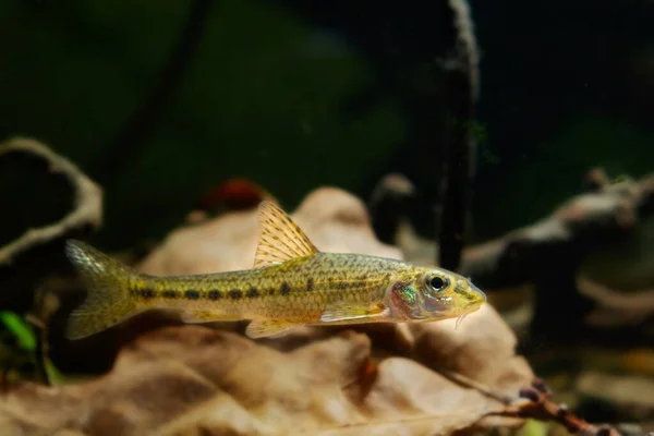
{"label": "scaly golden flank with dark spot row, between fish's tail and head", "polygon": [[142,308],[179,307],[216,316],[319,319],[328,304],[372,305],[384,296],[391,259],[319,253],[250,271],[179,277],[144,277],[132,283]]}

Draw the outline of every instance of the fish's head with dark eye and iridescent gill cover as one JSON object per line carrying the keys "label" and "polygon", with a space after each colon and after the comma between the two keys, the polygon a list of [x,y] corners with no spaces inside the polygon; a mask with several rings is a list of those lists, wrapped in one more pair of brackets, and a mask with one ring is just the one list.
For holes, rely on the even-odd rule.
{"label": "fish's head with dark eye and iridescent gill cover", "polygon": [[470,279],[441,268],[411,268],[393,278],[385,295],[390,317],[437,320],[475,312],[486,295]]}

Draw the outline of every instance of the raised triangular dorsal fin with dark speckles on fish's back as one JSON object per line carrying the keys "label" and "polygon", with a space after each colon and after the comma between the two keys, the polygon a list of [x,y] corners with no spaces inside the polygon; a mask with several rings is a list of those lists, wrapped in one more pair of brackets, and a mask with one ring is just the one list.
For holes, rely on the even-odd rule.
{"label": "raised triangular dorsal fin with dark speckles on fish's back", "polygon": [[254,255],[254,267],[281,264],[307,257],[318,250],[291,217],[270,202],[259,204],[261,235]]}

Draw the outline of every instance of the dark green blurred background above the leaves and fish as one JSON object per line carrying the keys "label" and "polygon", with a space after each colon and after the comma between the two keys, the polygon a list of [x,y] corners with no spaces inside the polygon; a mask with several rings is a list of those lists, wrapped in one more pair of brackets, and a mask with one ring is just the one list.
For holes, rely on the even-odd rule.
{"label": "dark green blurred background above the leaves and fish", "polygon": [[[420,149],[438,147],[437,64],[449,32],[437,2],[205,1],[170,98],[155,98],[154,121],[131,136],[201,3],[0,2],[0,136],[44,141],[102,184],[102,247],[164,235],[232,177],[292,208],[318,185],[365,197],[388,171],[428,173],[424,156],[434,155]],[[475,239],[546,215],[590,167],[652,170],[652,2],[471,8],[484,136]],[[423,195],[435,195],[437,183],[421,177]],[[17,205],[37,193],[28,181],[15,190],[16,178],[3,170],[0,186],[14,186],[3,190]],[[65,196],[52,189],[43,214],[16,206],[9,221],[59,216]],[[15,237],[11,227],[0,240]]]}

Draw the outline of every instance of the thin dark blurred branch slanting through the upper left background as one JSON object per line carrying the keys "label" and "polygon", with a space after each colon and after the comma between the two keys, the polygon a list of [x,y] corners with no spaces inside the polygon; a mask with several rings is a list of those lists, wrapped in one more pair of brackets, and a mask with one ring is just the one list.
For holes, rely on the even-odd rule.
{"label": "thin dark blurred branch slanting through the upper left background", "polygon": [[155,85],[107,148],[107,154],[101,155],[93,167],[92,173],[100,183],[106,183],[120,172],[122,166],[137,154],[138,145],[146,142],[170,106],[197,52],[214,3],[214,0],[192,2],[177,47],[171,51]]}

